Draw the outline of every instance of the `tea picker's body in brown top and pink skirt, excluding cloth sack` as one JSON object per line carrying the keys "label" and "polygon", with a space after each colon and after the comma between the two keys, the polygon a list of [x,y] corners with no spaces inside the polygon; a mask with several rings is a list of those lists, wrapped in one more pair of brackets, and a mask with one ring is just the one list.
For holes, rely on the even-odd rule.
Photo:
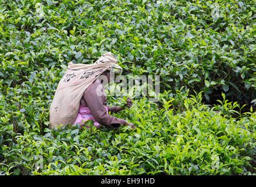
{"label": "tea picker's body in brown top and pink skirt, excluding cloth sack", "polygon": [[[117,66],[116,66],[117,67]],[[107,81],[110,81],[110,71],[114,74],[120,74],[120,71],[115,71],[120,68],[110,67],[109,70],[106,70],[102,73],[103,76],[106,76]],[[122,69],[121,69],[122,70]],[[78,112],[78,117],[76,123],[83,124],[87,120],[92,119],[94,125],[99,128],[100,125],[112,128],[118,128],[121,125],[131,126],[132,129],[135,128],[133,123],[128,123],[124,119],[119,119],[114,116],[110,116],[109,112],[117,113],[121,110],[124,110],[125,107],[119,106],[107,106],[107,99],[105,94],[105,89],[102,85],[103,83],[102,76],[97,78],[92,84],[88,86],[85,93],[83,93],[82,99],[80,101],[80,107]],[[127,98],[126,107],[131,108],[133,105],[132,99]]]}

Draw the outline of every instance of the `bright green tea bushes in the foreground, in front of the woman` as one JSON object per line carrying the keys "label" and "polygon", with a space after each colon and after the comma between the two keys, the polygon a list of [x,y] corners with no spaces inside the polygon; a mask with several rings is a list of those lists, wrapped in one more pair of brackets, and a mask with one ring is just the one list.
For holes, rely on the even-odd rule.
{"label": "bright green tea bushes in the foreground, in front of the woman", "polygon": [[201,93],[177,92],[177,98],[166,100],[167,93],[161,95],[163,108],[140,99],[116,115],[136,124],[133,131],[127,126],[96,129],[89,122],[90,129],[44,128],[40,134],[37,124],[22,123],[21,129],[7,121],[0,126],[4,133],[0,174],[255,174],[255,112],[235,119],[230,115],[237,103],[223,99],[210,108],[201,104]]}

